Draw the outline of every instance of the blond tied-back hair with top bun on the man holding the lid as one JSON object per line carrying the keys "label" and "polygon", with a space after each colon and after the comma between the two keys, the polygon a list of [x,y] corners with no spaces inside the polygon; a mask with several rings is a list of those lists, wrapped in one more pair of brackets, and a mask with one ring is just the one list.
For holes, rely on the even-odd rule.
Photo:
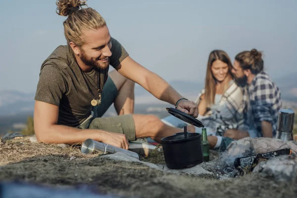
{"label": "blond tied-back hair with top bun on the man holding the lid", "polygon": [[57,0],[56,5],[58,15],[68,16],[63,22],[67,44],[72,41],[81,47],[85,42],[82,37],[85,30],[97,30],[106,26],[105,20],[95,9],[82,8],[84,5],[87,6],[86,0]]}

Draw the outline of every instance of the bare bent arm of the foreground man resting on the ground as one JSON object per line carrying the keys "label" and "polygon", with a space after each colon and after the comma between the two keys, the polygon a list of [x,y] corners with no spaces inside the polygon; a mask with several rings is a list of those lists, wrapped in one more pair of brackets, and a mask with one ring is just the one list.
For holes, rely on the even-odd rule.
{"label": "bare bent arm of the foreground man resting on the ground", "polygon": [[75,144],[88,138],[128,149],[128,141],[123,134],[97,129],[78,129],[57,125],[59,107],[42,101],[36,101],[34,107],[34,130],[39,142]]}

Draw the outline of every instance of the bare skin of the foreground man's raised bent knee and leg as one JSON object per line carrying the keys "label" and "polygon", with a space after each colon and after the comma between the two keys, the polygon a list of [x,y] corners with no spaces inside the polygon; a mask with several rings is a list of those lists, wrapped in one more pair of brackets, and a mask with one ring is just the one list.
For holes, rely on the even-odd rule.
{"label": "bare skin of the foreground man's raised bent knee and leg", "polygon": [[114,101],[114,108],[118,115],[134,113],[134,86],[135,83],[116,70],[108,73],[119,94]]}

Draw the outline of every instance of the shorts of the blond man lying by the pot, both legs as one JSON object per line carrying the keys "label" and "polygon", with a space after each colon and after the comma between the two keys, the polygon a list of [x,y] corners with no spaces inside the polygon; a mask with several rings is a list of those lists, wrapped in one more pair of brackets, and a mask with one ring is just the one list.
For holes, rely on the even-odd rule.
{"label": "shorts of the blond man lying by the pot, both legs", "polygon": [[135,140],[135,123],[132,114],[101,117],[118,96],[113,81],[108,77],[103,87],[101,104],[93,108],[93,117],[79,126],[82,129],[100,129],[125,134],[128,141]]}

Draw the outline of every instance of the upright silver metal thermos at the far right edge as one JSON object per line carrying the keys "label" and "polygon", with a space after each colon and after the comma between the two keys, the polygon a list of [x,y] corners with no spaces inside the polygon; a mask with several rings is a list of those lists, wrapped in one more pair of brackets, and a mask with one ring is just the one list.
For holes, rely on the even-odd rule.
{"label": "upright silver metal thermos at the far right edge", "polygon": [[279,110],[276,138],[284,142],[293,140],[294,111],[292,109]]}

